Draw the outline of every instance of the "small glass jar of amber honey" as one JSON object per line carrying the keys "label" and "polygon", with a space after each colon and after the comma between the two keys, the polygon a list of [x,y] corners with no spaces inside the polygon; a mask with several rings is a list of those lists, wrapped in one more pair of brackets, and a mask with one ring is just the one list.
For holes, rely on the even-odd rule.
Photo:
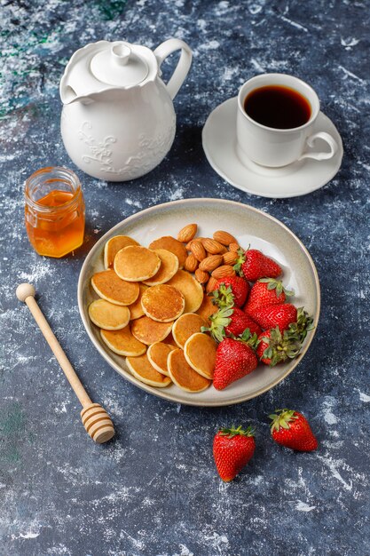
{"label": "small glass jar of amber honey", "polygon": [[28,239],[45,257],[63,257],[83,243],[85,205],[75,172],[60,166],[35,171],[26,181]]}

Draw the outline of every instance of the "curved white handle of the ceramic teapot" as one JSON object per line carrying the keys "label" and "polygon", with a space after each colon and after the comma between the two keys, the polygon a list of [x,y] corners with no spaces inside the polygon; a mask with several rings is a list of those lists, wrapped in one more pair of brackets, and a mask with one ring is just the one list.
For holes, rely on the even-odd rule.
{"label": "curved white handle of the ceramic teapot", "polygon": [[193,53],[190,47],[178,38],[169,38],[168,41],[157,46],[154,50],[154,56],[158,61],[158,66],[161,68],[162,61],[175,52],[181,50],[180,60],[178,60],[177,67],[174,73],[167,83],[167,90],[169,91],[169,96],[173,100],[175,99],[177,92],[179,91],[181,85],[185,81],[185,77],[188,74],[190,66],[192,65]]}

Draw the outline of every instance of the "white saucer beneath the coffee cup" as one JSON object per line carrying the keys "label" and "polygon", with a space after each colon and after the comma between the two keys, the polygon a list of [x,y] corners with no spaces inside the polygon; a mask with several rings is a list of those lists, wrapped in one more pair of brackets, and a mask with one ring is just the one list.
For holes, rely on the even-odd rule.
{"label": "white saucer beneath the coffee cup", "polygon": [[[238,99],[228,99],[216,107],[207,118],[201,133],[203,149],[212,168],[234,187],[252,195],[271,197],[297,197],[325,186],[334,178],[342,163],[342,139],[334,123],[322,112],[314,125],[313,133],[327,131],[338,143],[333,158],[316,161],[304,159],[284,168],[264,168],[250,161],[241,163],[236,153],[236,114]],[[325,144],[323,144],[325,148]],[[319,140],[314,150],[319,150]]]}

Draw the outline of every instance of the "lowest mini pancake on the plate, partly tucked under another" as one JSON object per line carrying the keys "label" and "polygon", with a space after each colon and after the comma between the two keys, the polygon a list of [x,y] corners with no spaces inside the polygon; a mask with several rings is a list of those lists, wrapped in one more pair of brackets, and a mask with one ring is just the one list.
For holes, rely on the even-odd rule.
{"label": "lowest mini pancake on the plate, partly tucked under another", "polygon": [[211,381],[201,377],[185,360],[182,349],[174,349],[169,353],[167,360],[169,377],[182,390],[186,392],[202,392],[211,384]]}

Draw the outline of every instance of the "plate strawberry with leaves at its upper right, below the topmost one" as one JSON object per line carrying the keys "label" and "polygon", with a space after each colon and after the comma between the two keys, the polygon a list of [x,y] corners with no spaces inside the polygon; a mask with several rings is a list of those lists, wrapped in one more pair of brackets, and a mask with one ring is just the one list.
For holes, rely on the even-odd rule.
{"label": "plate strawberry with leaves at its upper right, below the topmost one", "polygon": [[253,318],[257,308],[279,305],[284,303],[287,296],[291,295],[293,295],[293,291],[283,288],[280,280],[263,278],[252,286],[247,305],[243,307],[243,311]]}

